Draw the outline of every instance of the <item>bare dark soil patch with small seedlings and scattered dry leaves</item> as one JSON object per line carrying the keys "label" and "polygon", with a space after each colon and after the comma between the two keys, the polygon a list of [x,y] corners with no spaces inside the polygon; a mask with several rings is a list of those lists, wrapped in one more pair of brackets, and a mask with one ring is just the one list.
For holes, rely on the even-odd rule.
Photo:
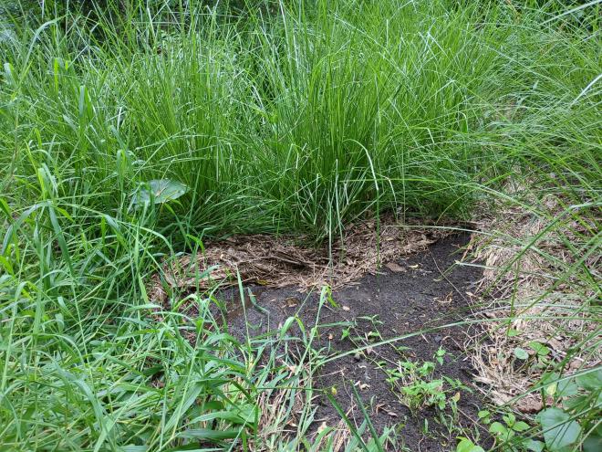
{"label": "bare dark soil patch with small seedlings and scattered dry leaves", "polygon": [[[476,413],[482,404],[472,387],[470,363],[462,352],[466,327],[437,329],[462,321],[470,314],[468,299],[482,271],[454,265],[462,258],[461,248],[467,241],[468,235],[443,238],[426,252],[389,263],[379,274],[368,275],[354,286],[333,293],[337,307],[323,304],[314,348],[335,358],[317,372],[315,385],[324,391],[317,400],[316,429],[324,422],[336,426],[340,420],[324,395],[327,392],[336,394],[338,404],[349,412],[350,419],[358,426],[362,423],[364,416],[358,409],[352,384],[356,385],[379,434],[388,426],[400,433],[403,444],[390,450],[455,450],[462,427],[479,428]],[[261,309],[247,305],[231,310],[228,324],[234,336],[244,338],[247,328],[251,335],[277,330],[288,317],[295,315],[308,328],[316,324],[319,293],[301,294],[295,287],[251,290]],[[233,297],[230,306],[236,302]],[[433,328],[436,330],[396,342],[370,345]],[[354,352],[366,346],[369,348]],[[440,348],[445,351],[442,364],[435,358]],[[343,356],[337,358],[339,354]],[[434,373],[425,380],[446,376],[464,387],[454,387],[444,380],[448,399],[444,409],[425,404],[410,410],[400,389],[407,381],[406,384],[398,381],[397,386],[387,381],[389,375],[385,369],[398,368],[400,362],[435,363]],[[409,373],[403,374],[410,378]],[[457,394],[460,398],[454,415],[450,399]],[[480,433],[486,436],[486,432]]]}

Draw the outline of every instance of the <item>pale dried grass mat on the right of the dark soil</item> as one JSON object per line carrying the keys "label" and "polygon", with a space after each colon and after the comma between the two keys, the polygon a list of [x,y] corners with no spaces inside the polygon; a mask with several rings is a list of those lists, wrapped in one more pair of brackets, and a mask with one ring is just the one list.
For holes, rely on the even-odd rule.
{"label": "pale dried grass mat on the right of the dark soil", "polygon": [[[469,246],[475,260],[485,266],[480,295],[489,301],[478,315],[490,320],[483,322],[484,328],[466,344],[475,380],[488,388],[493,402],[513,404],[524,413],[543,408],[544,401],[538,395],[517,396],[536,384],[546,369],[533,365],[535,359],[527,363],[517,360],[517,347],[533,355],[530,342],[545,344],[552,363],[566,360],[566,373],[596,365],[602,358],[599,351],[591,353],[595,347],[582,343],[586,338],[590,345],[600,340],[599,321],[591,314],[587,301],[594,300],[599,292],[583,289],[583,285],[577,291],[579,281],[575,276],[555,284],[555,276],[576,260],[576,253],[566,244],[578,248],[592,237],[595,225],[569,221],[546,232],[563,207],[561,200],[550,196],[545,198],[543,208],[547,215],[535,215],[514,206],[482,220],[482,233],[473,234]],[[535,246],[525,252],[525,244],[534,240]],[[599,279],[600,256],[592,256],[585,265]],[[508,317],[514,321],[491,321]],[[508,334],[509,331],[517,333]],[[578,344],[584,352],[575,353],[573,349]]]}

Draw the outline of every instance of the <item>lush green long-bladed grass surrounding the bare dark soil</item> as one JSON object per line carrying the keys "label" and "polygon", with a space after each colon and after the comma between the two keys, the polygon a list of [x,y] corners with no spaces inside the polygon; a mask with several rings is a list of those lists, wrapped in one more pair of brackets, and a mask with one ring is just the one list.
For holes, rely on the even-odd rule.
{"label": "lush green long-bladed grass surrounding the bare dark soil", "polygon": [[[311,327],[238,343],[211,294],[194,327],[150,316],[161,258],[207,237],[317,244],[385,211],[444,225],[520,207],[545,228],[506,243],[551,283],[517,303],[569,284],[570,309],[596,317],[599,2],[126,4],[49,2],[2,25],[3,447],[311,449]],[[156,179],[190,190],[132,206]],[[299,372],[275,342],[301,343]],[[275,396],[272,426],[305,401],[293,436],[265,426],[258,400]]]}

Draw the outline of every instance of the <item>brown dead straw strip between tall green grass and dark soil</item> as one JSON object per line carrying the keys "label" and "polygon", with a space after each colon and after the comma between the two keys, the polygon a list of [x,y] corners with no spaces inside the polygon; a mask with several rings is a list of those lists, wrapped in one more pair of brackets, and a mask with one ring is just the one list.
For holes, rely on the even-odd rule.
{"label": "brown dead straw strip between tall green grass and dark soil", "polygon": [[[300,291],[348,285],[402,256],[425,250],[451,233],[441,228],[401,225],[392,215],[348,227],[332,247],[298,245],[292,237],[250,235],[208,243],[195,256],[165,262],[152,277],[150,299],[164,304],[172,290],[208,289],[217,283],[285,287]],[[397,265],[397,264],[395,264]],[[396,268],[395,271],[403,271]]]}

